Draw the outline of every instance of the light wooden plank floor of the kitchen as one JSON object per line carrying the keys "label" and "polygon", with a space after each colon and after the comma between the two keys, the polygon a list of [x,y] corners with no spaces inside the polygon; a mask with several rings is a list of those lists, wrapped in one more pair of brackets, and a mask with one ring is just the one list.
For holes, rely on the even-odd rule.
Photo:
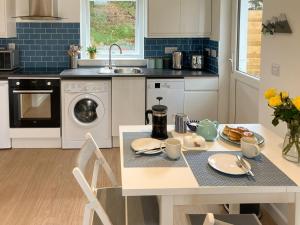
{"label": "light wooden plank floor of the kitchen", "polygon": [[[120,182],[118,149],[103,151]],[[81,225],[86,199],[71,173],[77,153],[60,149],[0,151],[0,224]],[[99,181],[99,185],[110,185],[105,176]],[[223,210],[204,207],[207,209]],[[202,209],[188,210],[199,213]],[[184,224],[185,211],[176,209],[177,225]],[[265,213],[263,219],[264,225],[274,224]]]}

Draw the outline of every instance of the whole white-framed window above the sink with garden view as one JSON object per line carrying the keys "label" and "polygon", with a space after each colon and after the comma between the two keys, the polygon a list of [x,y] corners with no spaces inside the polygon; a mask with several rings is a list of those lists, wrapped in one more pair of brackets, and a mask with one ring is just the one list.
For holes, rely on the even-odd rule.
{"label": "whole white-framed window above the sink with garden view", "polygon": [[82,58],[96,46],[97,59],[107,59],[109,46],[117,43],[113,59],[143,59],[144,0],[83,0],[81,7]]}

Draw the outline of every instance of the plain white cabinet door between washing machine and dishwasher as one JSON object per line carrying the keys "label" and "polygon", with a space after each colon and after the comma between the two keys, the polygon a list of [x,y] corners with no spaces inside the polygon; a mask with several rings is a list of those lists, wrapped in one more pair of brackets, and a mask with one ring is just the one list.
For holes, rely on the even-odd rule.
{"label": "plain white cabinet door between washing machine and dishwasher", "polygon": [[120,125],[145,125],[145,85],[143,77],[112,78],[112,136]]}

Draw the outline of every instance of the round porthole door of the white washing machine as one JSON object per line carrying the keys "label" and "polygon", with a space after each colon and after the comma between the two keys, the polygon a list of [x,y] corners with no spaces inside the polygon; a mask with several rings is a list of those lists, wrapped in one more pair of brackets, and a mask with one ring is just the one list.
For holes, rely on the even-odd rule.
{"label": "round porthole door of the white washing machine", "polygon": [[70,114],[74,121],[81,126],[94,126],[104,116],[104,106],[99,98],[94,95],[81,95],[73,100],[70,105]]}

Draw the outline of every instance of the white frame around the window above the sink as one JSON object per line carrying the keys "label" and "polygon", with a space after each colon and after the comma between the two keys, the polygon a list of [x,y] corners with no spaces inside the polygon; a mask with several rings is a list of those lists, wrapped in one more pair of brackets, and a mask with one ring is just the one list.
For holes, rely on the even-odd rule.
{"label": "white frame around the window above the sink", "polygon": [[[118,0],[122,1],[122,0]],[[125,1],[125,0],[124,0]],[[144,59],[144,5],[145,0],[136,0],[135,53],[116,55],[114,59]],[[81,0],[80,13],[80,42],[82,59],[88,59],[87,47],[90,46],[90,0]],[[122,46],[121,46],[122,47]],[[124,54],[125,53],[125,54]],[[97,59],[107,59],[107,54],[97,54]]]}

